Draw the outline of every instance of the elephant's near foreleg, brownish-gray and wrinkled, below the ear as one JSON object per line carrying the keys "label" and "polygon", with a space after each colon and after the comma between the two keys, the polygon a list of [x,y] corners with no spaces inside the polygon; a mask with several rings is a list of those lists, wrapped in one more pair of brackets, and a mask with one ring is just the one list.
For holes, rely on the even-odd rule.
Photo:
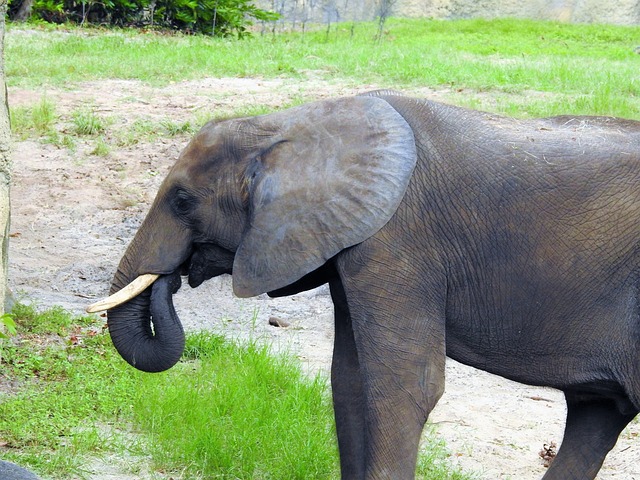
{"label": "elephant's near foreleg, brownish-gray and wrinkled, below the ear", "polygon": [[415,272],[393,269],[340,270],[362,374],[365,479],[415,477],[422,429],[444,389],[443,315],[401,280]]}

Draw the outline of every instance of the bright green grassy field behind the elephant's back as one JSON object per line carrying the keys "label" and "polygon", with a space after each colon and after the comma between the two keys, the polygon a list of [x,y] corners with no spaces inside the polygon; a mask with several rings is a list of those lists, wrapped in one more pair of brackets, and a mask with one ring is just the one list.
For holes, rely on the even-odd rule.
{"label": "bright green grassy field behind the elephant's back", "polygon": [[245,41],[131,30],[12,26],[13,86],[104,78],[164,84],[206,76],[294,77],[448,89],[456,103],[518,116],[640,118],[640,27],[524,20],[400,20],[337,24],[327,33],[259,34]]}

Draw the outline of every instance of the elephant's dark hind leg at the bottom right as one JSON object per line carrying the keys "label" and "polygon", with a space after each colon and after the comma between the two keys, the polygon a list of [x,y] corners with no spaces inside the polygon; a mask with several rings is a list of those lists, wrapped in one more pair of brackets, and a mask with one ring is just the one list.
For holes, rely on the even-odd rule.
{"label": "elephant's dark hind leg at the bottom right", "polygon": [[558,455],[544,480],[592,480],[635,413],[623,414],[615,401],[588,400],[565,393],[567,424]]}

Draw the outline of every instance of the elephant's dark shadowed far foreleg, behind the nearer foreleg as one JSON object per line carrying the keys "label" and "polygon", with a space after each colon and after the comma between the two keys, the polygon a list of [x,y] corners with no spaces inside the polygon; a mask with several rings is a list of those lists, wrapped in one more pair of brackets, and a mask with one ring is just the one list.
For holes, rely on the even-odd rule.
{"label": "elephant's dark shadowed far foreleg, behind the nearer foreleg", "polygon": [[343,480],[364,479],[365,418],[362,377],[349,307],[340,280],[329,283],[335,315],[331,386]]}

